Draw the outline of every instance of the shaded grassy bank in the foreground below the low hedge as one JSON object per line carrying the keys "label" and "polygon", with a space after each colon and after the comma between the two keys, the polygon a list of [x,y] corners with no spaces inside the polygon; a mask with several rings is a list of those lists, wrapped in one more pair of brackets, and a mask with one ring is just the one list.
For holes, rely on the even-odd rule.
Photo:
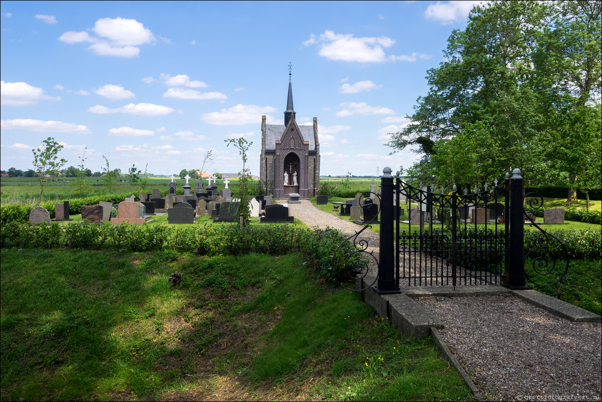
{"label": "shaded grassy bank in the foreground below the low hedge", "polygon": [[300,254],[0,253],[2,400],[472,399]]}

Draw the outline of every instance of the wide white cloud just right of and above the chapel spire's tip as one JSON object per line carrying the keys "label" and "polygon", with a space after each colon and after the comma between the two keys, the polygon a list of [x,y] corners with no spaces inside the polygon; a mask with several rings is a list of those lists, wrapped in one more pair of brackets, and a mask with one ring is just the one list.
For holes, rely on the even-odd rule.
{"label": "wide white cloud just right of and above the chapel spire's tip", "polygon": [[311,34],[303,45],[309,46],[320,43],[318,54],[329,60],[357,61],[359,63],[382,63],[383,61],[416,61],[418,58],[430,58],[420,53],[407,55],[386,55],[383,48],[395,44],[395,40],[386,36],[380,37],[353,37],[353,34],[335,34],[326,30],[320,36]]}

